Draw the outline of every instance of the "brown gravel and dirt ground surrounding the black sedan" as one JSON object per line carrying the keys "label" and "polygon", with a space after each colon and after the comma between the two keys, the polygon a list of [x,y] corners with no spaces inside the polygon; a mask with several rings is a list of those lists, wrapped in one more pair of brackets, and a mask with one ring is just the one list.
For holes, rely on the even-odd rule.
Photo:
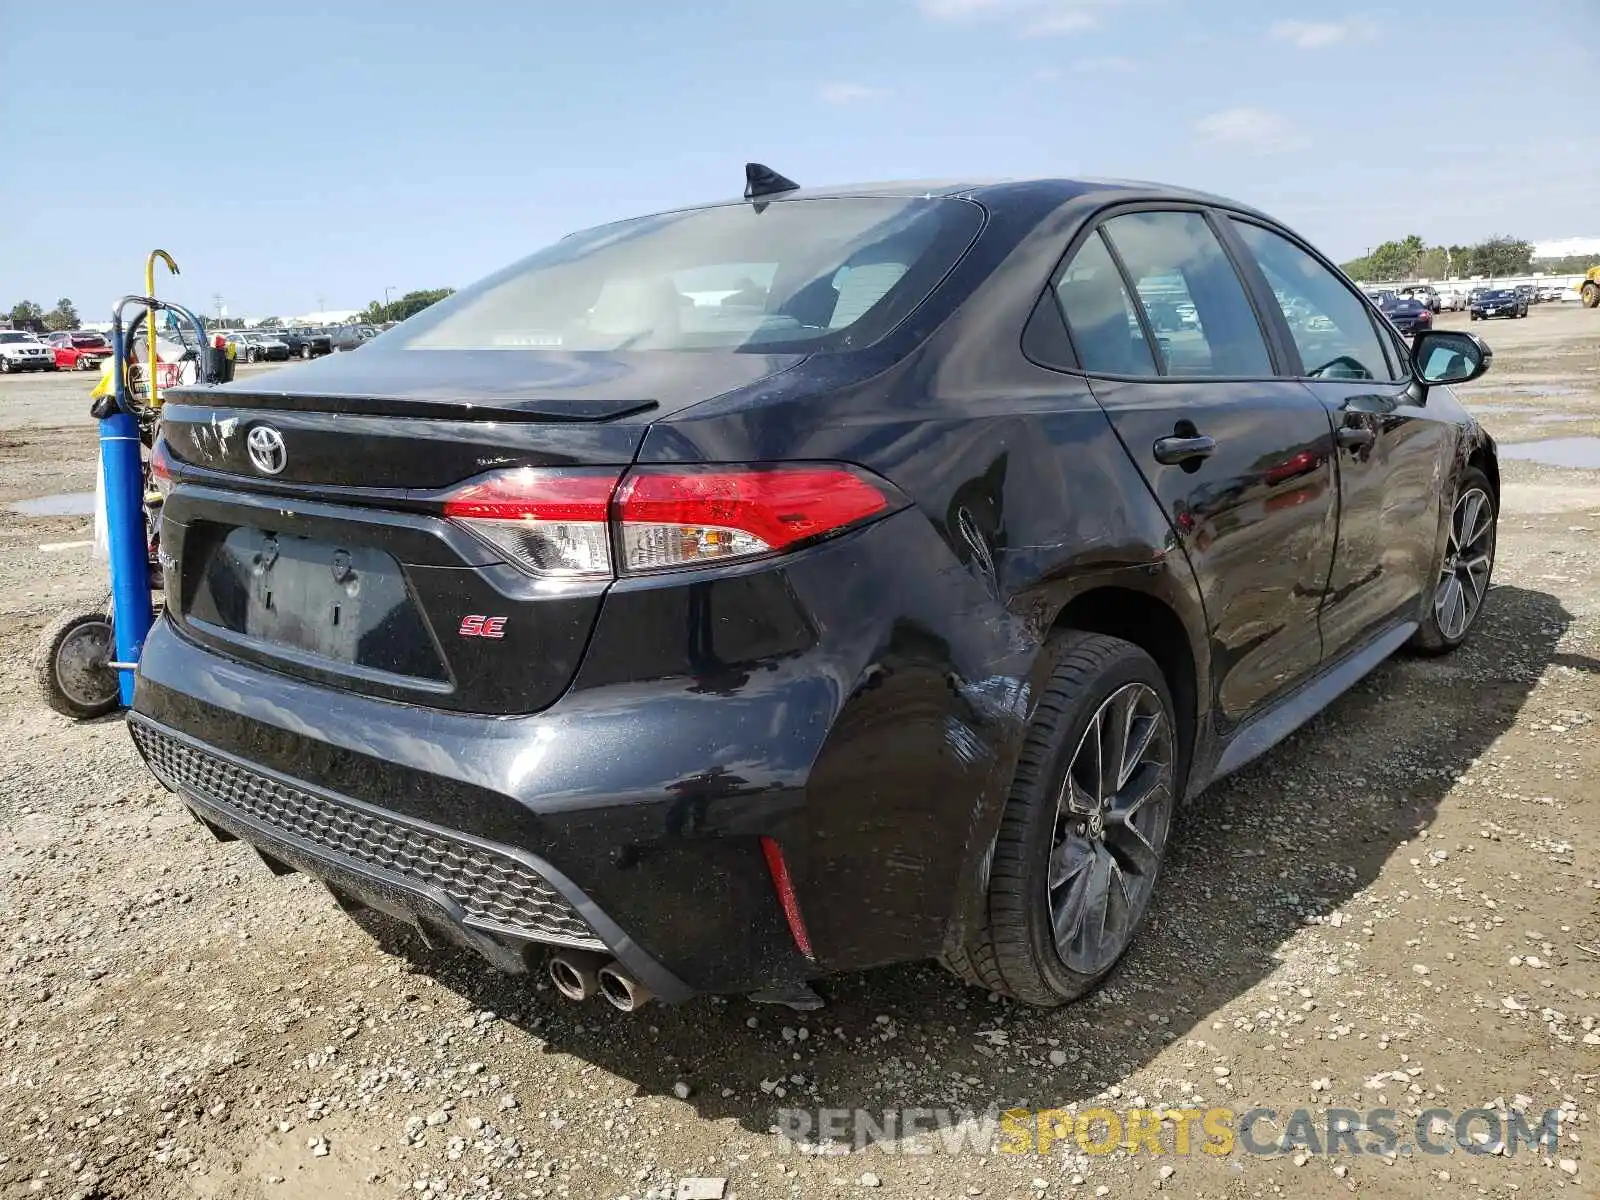
{"label": "brown gravel and dirt ground surrounding the black sedan", "polygon": [[[1498,357],[1467,400],[1502,443],[1600,435],[1600,314],[1474,330]],[[0,379],[0,509],[93,486],[85,392]],[[629,1018],[467,958],[389,957],[304,877],[211,842],[120,722],[38,702],[35,635],[101,573],[38,549],[86,518],[0,510],[0,1197],[642,1200],[685,1178],[747,1200],[1594,1197],[1600,470],[1507,458],[1504,478],[1470,645],[1384,666],[1190,810],[1136,949],[1056,1013],[906,966],[827,981],[811,1014]],[[1530,1125],[1558,1109],[1560,1141],[845,1157],[771,1133],[790,1106],[992,1104],[1389,1107],[1402,1133],[1510,1106]]]}

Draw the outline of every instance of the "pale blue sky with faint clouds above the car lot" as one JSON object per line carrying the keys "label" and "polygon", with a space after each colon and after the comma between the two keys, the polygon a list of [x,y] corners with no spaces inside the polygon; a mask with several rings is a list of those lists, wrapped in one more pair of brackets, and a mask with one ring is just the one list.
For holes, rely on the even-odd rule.
{"label": "pale blue sky with faint clouds above the car lot", "polygon": [[802,182],[1163,179],[1341,259],[1408,232],[1600,235],[1600,0],[168,2],[155,32],[144,11],[5,22],[0,307],[99,318],[155,245],[192,304],[360,307],[736,194],[746,158]]}

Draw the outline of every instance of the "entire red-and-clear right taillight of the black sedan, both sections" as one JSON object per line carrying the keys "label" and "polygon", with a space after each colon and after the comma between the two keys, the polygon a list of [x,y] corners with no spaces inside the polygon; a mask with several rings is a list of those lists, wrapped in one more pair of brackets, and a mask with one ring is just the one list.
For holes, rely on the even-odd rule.
{"label": "entire red-and-clear right taillight of the black sedan, both sections", "polygon": [[[834,464],[502,470],[445,499],[445,515],[530,574],[606,579],[754,558],[840,533],[890,507]],[[613,546],[616,562],[613,563]]]}

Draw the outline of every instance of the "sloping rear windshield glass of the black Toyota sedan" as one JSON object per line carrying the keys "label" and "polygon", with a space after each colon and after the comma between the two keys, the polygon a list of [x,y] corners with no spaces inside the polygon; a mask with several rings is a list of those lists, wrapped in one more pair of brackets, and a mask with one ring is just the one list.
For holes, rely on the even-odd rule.
{"label": "sloping rear windshield glass of the black Toyota sedan", "polygon": [[965,200],[726,205],[602,226],[456,293],[374,346],[752,350],[866,346],[971,245]]}

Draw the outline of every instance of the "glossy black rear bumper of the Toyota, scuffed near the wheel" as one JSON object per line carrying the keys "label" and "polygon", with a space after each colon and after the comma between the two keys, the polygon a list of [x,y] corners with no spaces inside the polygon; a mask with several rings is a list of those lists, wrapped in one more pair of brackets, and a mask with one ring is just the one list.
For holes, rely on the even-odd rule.
{"label": "glossy black rear bumper of the Toyota, scuffed near the wheel", "polygon": [[[539,942],[589,944],[584,928],[666,998],[926,958],[986,861],[1035,661],[982,581],[946,562],[928,522],[902,512],[781,570],[616,584],[566,694],[520,717],[322,686],[162,619],[130,722],[210,824],[509,970]],[[861,595],[878,597],[870,618]],[[202,765],[181,774],[152,734]],[[270,798],[242,806],[235,792]],[[578,942],[526,914],[486,923],[459,880],[394,878],[365,856],[373,827],[384,845],[421,837],[501,864],[472,878],[522,864],[579,915],[558,926]],[[763,838],[782,850],[813,957]]]}

